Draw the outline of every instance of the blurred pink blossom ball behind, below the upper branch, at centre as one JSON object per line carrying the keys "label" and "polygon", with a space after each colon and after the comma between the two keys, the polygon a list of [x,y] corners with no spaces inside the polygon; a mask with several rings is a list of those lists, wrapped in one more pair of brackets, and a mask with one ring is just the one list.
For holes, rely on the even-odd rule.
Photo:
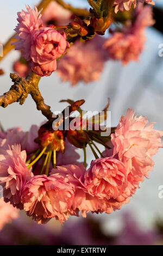
{"label": "blurred pink blossom ball behind, below the upper branch, at centre", "polygon": [[80,81],[99,80],[107,58],[107,52],[102,48],[104,41],[101,36],[96,36],[85,44],[75,42],[58,62],[57,72],[61,80],[70,81],[73,86]]}

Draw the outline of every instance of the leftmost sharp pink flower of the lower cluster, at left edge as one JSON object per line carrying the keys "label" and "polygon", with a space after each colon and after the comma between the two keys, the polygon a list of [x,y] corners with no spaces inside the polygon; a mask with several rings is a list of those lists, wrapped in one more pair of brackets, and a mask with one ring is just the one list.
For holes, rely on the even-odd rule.
{"label": "leftmost sharp pink flower of the lower cluster, at left edge", "polygon": [[21,151],[21,145],[1,149],[0,183],[4,199],[10,200],[13,205],[20,203],[22,188],[33,176],[32,170],[26,167],[26,159],[26,151]]}

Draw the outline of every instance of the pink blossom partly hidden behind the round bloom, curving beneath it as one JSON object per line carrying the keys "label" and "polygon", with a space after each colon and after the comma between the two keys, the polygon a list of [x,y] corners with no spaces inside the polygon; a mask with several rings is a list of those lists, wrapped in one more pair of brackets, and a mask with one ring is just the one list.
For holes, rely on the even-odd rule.
{"label": "pink blossom partly hidden behind the round bloom, curving beneath it", "polygon": [[114,198],[101,199],[102,197],[97,198],[95,195],[92,196],[92,193],[90,193],[85,186],[85,173],[86,169],[82,164],[80,164],[80,166],[74,164],[58,166],[51,172],[53,175],[61,175],[64,177],[65,182],[73,187],[74,197],[72,207],[69,210],[70,215],[79,216],[79,212],[81,212],[83,217],[86,217],[86,213],[90,211],[96,212],[97,214],[99,212],[111,214],[112,211],[121,209],[123,204],[129,202],[129,198],[118,202]]}

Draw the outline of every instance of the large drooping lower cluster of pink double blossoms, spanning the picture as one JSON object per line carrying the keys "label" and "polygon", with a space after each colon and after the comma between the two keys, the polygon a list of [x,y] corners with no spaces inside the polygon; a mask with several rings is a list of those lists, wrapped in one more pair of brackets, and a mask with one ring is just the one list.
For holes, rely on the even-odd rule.
{"label": "large drooping lower cluster of pink double blossoms, spanning the picture", "polygon": [[[0,184],[5,202],[24,209],[38,223],[46,223],[51,218],[63,223],[70,215],[79,216],[79,212],[86,217],[89,211],[111,214],[121,209],[153,169],[152,156],[163,147],[163,132],[154,130],[153,125],[146,117],[137,117],[128,109],[111,134],[110,149],[102,153],[103,157],[92,160],[87,169],[79,162],[76,148],[67,139],[65,153],[58,152],[57,167],[53,166],[49,150],[52,142],[59,145],[59,140],[54,137],[54,141],[49,141],[48,136],[48,146],[40,151],[34,139],[37,126],[30,132],[21,129],[1,132]],[[39,129],[39,140],[40,135],[43,138],[47,134],[45,127],[48,126]],[[40,133],[42,129],[44,132]],[[43,167],[47,164],[50,169],[49,172],[46,169],[45,174],[39,160],[42,152],[45,152]],[[37,166],[34,157],[39,160]]]}

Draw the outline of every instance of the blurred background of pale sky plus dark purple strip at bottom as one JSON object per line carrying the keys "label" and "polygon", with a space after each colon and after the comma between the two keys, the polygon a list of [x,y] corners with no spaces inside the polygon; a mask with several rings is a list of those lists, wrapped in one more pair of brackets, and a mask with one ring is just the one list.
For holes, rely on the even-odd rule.
{"label": "blurred background of pale sky plus dark purple strip at bottom", "polygon": [[[88,7],[85,0],[65,1],[78,7]],[[25,4],[34,7],[36,0],[7,0],[1,3],[0,42],[5,43],[13,34],[17,25],[16,13],[25,8]],[[162,0],[156,3],[158,10],[163,9]],[[158,15],[158,14],[156,14]],[[155,16],[156,19],[156,16]],[[157,23],[158,24],[158,23]],[[146,115],[149,121],[156,122],[155,129],[163,130],[163,57],[158,56],[159,44],[163,44],[163,22],[159,27],[146,31],[147,43],[139,62],[127,66],[108,61],[100,81],[90,84],[79,83],[72,87],[68,82],[61,82],[55,72],[44,77],[40,90],[45,102],[52,111],[62,111],[65,103],[61,99],[85,99],[84,109],[101,111],[110,97],[111,125],[116,126],[128,107],[136,113]],[[0,78],[0,94],[11,86],[9,77],[12,65],[20,53],[12,51],[0,63],[5,75]],[[21,126],[24,131],[32,124],[40,125],[45,120],[36,110],[31,97],[23,106],[14,103],[7,108],[0,108],[0,120],[4,129]],[[70,217],[62,226],[57,221],[46,225],[37,225],[22,212],[18,220],[7,224],[0,232],[0,244],[14,245],[126,245],[126,244],[163,244],[163,199],[158,197],[159,186],[163,185],[163,149],[154,157],[154,171],[140,185],[140,189],[131,198],[128,205],[111,215],[88,215]],[[89,161],[92,155],[89,153]],[[1,216],[2,217],[2,216]],[[67,235],[68,234],[68,235]],[[68,237],[68,238],[67,238]]]}

